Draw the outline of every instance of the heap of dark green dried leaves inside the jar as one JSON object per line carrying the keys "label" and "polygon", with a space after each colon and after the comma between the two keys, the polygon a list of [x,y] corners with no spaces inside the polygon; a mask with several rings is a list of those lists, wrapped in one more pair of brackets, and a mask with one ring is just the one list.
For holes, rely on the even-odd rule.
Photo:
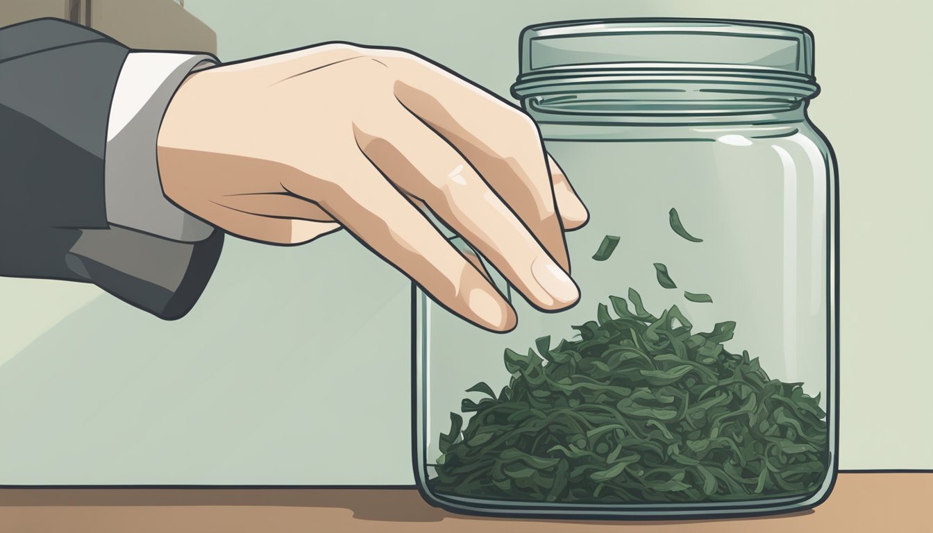
{"label": "heap of dark green dried leaves inside the jar", "polygon": [[[485,383],[441,434],[435,491],[511,500],[622,503],[802,495],[826,471],[819,396],[729,353],[734,322],[694,333],[676,306],[652,316],[629,290],[579,339],[506,350],[512,378]],[[463,430],[461,431],[461,429]]]}

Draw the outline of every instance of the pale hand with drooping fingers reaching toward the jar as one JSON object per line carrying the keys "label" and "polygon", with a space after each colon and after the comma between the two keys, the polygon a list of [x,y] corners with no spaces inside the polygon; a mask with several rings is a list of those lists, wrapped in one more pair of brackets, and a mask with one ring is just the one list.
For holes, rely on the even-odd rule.
{"label": "pale hand with drooping fingers reaching toward the jar", "polygon": [[481,327],[511,330],[515,311],[422,209],[536,307],[579,298],[564,231],[587,211],[535,123],[411,53],[327,44],[193,74],[158,157],[166,197],[193,215],[279,245],[345,228]]}

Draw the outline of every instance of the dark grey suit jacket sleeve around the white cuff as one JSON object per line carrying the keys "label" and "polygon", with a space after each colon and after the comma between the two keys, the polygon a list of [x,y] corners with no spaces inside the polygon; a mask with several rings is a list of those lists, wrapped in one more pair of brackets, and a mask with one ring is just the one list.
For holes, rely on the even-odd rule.
{"label": "dark grey suit jacket sleeve around the white cuff", "polygon": [[223,233],[179,243],[107,224],[107,119],[128,53],[65,21],[0,29],[0,275],[91,282],[174,319],[201,296]]}

